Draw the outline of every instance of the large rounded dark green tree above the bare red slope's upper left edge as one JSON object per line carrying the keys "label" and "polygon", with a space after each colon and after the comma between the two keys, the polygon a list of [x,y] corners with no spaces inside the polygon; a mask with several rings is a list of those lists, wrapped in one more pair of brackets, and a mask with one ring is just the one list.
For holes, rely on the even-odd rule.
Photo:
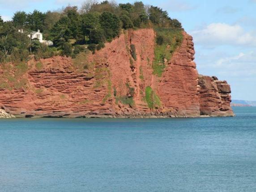
{"label": "large rounded dark green tree above the bare red slope's upper left edge", "polygon": [[104,12],[100,16],[100,25],[107,39],[115,38],[121,29],[120,19],[113,13]]}

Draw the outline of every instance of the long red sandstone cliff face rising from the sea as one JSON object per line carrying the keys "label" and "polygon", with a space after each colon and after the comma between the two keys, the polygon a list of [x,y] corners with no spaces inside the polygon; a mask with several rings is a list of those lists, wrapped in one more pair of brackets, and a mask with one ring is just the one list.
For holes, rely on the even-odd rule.
{"label": "long red sandstone cliff face rising from the sea", "polygon": [[198,76],[190,35],[162,77],[153,74],[154,46],[154,30],[130,30],[94,55],[1,64],[0,107],[18,117],[233,115],[226,81]]}

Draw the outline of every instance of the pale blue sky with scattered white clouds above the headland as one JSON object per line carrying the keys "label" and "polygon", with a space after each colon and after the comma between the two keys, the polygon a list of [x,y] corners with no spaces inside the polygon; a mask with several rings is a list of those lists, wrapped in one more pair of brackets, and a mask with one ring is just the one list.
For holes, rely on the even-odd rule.
{"label": "pale blue sky with scattered white clouds above the headland", "polygon": [[[84,0],[0,0],[0,15],[10,20],[24,10],[42,12]],[[116,0],[133,3],[135,0]],[[199,74],[231,85],[232,99],[256,100],[256,0],[142,0],[181,21],[195,43]]]}

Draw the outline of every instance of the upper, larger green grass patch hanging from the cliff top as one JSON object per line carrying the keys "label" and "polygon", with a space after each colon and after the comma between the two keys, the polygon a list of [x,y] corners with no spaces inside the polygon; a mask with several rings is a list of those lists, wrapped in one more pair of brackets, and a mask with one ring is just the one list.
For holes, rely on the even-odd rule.
{"label": "upper, larger green grass patch hanging from the cliff top", "polygon": [[154,70],[153,73],[158,77],[161,77],[166,67],[166,62],[171,60],[173,53],[183,41],[183,29],[157,28],[155,29],[155,32],[157,38],[152,68]]}

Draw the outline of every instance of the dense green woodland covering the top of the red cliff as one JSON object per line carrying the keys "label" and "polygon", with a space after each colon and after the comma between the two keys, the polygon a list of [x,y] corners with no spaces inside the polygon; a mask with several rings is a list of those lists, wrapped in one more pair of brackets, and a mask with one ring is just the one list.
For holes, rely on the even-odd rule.
{"label": "dense green woodland covering the top of the red cliff", "polygon": [[[171,19],[161,8],[134,4],[116,4],[87,0],[78,9],[68,6],[58,11],[33,13],[17,11],[12,21],[3,21],[0,16],[0,62],[23,62],[34,54],[35,59],[54,55],[75,57],[89,49],[100,50],[104,43],[129,28],[181,28],[181,23]],[[23,29],[24,33],[19,33]],[[43,38],[51,40],[54,46],[48,47],[27,35],[40,30]],[[157,43],[163,39],[158,37]]]}

